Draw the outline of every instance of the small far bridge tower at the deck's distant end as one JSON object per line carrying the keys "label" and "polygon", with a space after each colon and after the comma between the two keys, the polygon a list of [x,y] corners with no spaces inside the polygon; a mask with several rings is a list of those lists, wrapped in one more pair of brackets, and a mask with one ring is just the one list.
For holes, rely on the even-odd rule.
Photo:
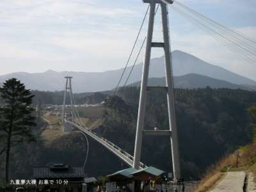
{"label": "small far bridge tower at the deck's distant end", "polygon": [[66,79],[66,85],[65,85],[65,91],[64,91],[64,99],[63,99],[63,106],[62,106],[62,115],[61,115],[61,121],[64,122],[65,120],[65,114],[66,114],[66,97],[67,97],[67,92],[69,90],[69,98],[70,98],[70,105],[71,105],[71,115],[72,115],[72,122],[74,122],[74,115],[75,115],[75,111],[74,111],[74,96],[73,96],[73,92],[72,92],[72,85],[71,85],[71,79],[73,77],[71,76],[67,76],[65,77]]}

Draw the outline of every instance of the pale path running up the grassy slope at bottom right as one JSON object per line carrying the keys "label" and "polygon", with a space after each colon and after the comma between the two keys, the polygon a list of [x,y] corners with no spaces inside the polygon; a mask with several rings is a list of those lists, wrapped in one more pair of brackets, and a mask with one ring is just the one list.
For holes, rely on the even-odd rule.
{"label": "pale path running up the grassy slope at bottom right", "polygon": [[211,192],[243,192],[245,172],[228,172]]}

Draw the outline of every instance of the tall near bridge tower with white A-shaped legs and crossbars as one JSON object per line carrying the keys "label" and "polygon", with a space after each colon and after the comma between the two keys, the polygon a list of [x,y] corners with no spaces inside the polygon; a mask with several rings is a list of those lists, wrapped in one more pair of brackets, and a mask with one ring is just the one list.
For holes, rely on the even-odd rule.
{"label": "tall near bridge tower with white A-shaped legs and crossbars", "polygon": [[[150,67],[151,49],[152,47],[162,47],[164,49],[166,87],[160,87],[160,88],[163,88],[164,90],[166,90],[166,95],[167,95],[168,119],[169,119],[169,125],[170,125],[169,135],[170,135],[170,141],[172,145],[173,179],[177,180],[177,179],[180,179],[179,145],[178,145],[176,118],[175,118],[172,57],[171,57],[171,50],[170,50],[167,4],[163,3],[161,0],[143,0],[143,2],[150,3],[150,13],[149,13],[149,19],[148,19],[146,52],[145,52],[145,59],[143,63],[143,72],[142,72],[142,80],[141,80],[140,104],[138,109],[138,121],[137,121],[137,127],[136,127],[136,140],[135,140],[135,148],[134,148],[133,168],[136,168],[136,169],[140,168],[142,138],[143,138],[143,134],[148,132],[143,130],[143,124],[145,119],[147,90],[149,90],[149,88],[152,89],[152,87],[147,86],[148,72]],[[154,31],[154,17],[155,17],[157,3],[160,4],[161,12],[162,12],[163,38],[164,38],[163,43],[152,42],[152,36]],[[172,4],[173,2],[168,0],[168,3]],[[163,135],[163,134],[157,134],[157,132],[163,133],[163,131],[156,131],[156,135]]]}

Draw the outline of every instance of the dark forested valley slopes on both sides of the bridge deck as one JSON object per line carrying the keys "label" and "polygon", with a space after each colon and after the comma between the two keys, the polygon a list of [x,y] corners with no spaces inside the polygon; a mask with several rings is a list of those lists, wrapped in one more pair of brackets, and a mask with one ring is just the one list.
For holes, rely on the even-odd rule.
{"label": "dark forested valley slopes on both sides of the bridge deck", "polygon": [[[134,150],[139,91],[136,87],[118,90],[118,95],[122,98],[119,98],[118,102],[115,101],[116,97],[108,100],[109,104],[116,103],[115,107],[113,110],[105,111],[103,117],[105,118],[108,114],[108,118],[95,130],[97,134],[124,148],[130,154],[133,154]],[[98,96],[101,97],[101,95]],[[211,164],[252,140],[252,127],[246,109],[256,103],[255,92],[227,88],[176,89],[175,100],[180,164],[182,175],[186,179],[198,179]],[[84,118],[88,113],[84,111],[81,115]],[[148,92],[145,127],[168,129],[166,93]],[[75,166],[83,164],[86,147],[79,134],[72,137],[58,136],[52,140],[51,145],[45,145],[49,143],[45,141],[45,136],[49,139],[50,132],[60,130],[55,129],[54,126],[48,131],[40,130],[44,134],[36,137],[38,138],[36,143],[22,145],[13,150],[12,156],[15,158],[12,158],[11,162],[12,175],[30,178],[33,166],[44,166],[49,162],[68,163]],[[108,175],[113,173],[113,170],[127,167],[96,141],[89,138],[89,143],[90,152],[86,163],[88,175]],[[145,164],[170,172],[172,161],[170,138],[159,140],[159,138],[145,137],[141,158]],[[164,160],[159,161],[159,159]]]}

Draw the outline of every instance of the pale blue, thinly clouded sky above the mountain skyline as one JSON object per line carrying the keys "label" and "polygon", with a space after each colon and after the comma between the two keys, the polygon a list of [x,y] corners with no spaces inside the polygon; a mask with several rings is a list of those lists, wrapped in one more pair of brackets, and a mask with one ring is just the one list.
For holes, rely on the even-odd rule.
{"label": "pale blue, thinly clouded sky above the mountain skyline", "polygon": [[[256,1],[179,0],[207,17],[256,38]],[[0,74],[124,67],[146,4],[121,0],[1,0]],[[147,24],[147,23],[146,23]],[[241,60],[170,9],[172,49],[256,80]],[[145,36],[146,26],[140,36]],[[160,17],[154,38],[161,40]],[[136,49],[138,50],[138,49]],[[153,52],[152,57],[162,52]],[[143,60],[141,54],[140,61]]]}

